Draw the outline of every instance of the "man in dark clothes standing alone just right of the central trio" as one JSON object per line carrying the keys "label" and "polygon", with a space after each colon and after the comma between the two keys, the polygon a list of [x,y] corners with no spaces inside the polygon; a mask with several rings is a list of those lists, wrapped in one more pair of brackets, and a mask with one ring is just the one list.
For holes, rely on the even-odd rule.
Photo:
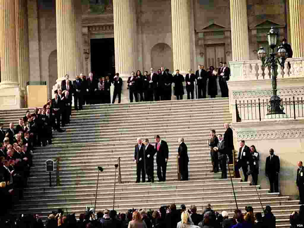
{"label": "man in dark clothes standing alone just right of the central trio", "polygon": [[184,138],[178,138],[178,165],[181,174],[181,181],[188,181],[188,148],[184,143]]}

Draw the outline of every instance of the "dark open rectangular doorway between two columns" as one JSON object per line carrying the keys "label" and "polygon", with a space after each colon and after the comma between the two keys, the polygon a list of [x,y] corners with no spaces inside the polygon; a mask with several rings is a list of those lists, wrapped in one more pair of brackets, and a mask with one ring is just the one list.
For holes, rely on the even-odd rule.
{"label": "dark open rectangular doorway between two columns", "polygon": [[91,39],[91,68],[94,78],[115,74],[114,38]]}

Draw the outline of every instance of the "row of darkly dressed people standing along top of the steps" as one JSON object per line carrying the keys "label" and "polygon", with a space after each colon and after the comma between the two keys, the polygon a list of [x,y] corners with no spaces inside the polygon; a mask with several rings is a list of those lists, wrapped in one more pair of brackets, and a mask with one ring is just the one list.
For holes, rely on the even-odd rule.
{"label": "row of darkly dressed people standing along top of the steps", "polygon": [[[226,66],[226,62],[220,62],[219,68],[210,66],[206,71],[204,66],[198,65],[198,70],[195,74],[191,69],[185,77],[180,74],[179,70],[175,74],[170,74],[169,69],[161,67],[154,72],[154,68],[150,68],[150,73],[140,70],[132,71],[130,77],[126,81],[129,89],[130,102],[139,101],[160,101],[171,100],[172,84],[174,83],[174,95],[177,100],[183,99],[184,86],[186,84],[187,99],[194,99],[194,92],[197,98],[206,98],[208,95],[215,98],[218,87],[220,88],[222,97],[228,97],[227,81],[230,78],[230,69]],[[218,79],[218,80],[217,80]],[[86,78],[84,74],[76,76],[72,82],[69,80],[69,75],[65,75],[65,79],[61,81],[62,93],[68,92],[74,96],[74,107],[76,110],[81,110],[84,104],[104,104],[111,103],[111,86],[114,86],[112,103],[115,102],[118,96],[118,103],[121,102],[121,92],[123,79],[116,73],[112,78],[111,75],[105,77],[94,77],[93,73],[89,73]]]}

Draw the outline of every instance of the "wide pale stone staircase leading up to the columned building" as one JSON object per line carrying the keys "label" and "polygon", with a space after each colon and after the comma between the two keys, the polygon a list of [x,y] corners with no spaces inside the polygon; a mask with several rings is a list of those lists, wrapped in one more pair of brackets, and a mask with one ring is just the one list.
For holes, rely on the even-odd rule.
{"label": "wide pale stone staircase leading up to the columned building", "polygon": [[[24,116],[27,109],[0,111],[0,122],[5,128],[10,122]],[[15,213],[40,212],[47,214],[57,208],[75,212],[94,206],[99,173],[96,210],[112,209],[114,164],[121,162],[122,184],[116,182],[114,208],[126,212],[132,207],[158,209],[161,205],[175,203],[178,207],[195,204],[198,211],[210,203],[218,212],[233,214],[236,208],[230,179],[219,179],[220,173],[212,169],[210,151],[206,141],[211,129],[224,133],[223,123],[232,121],[228,99],[200,99],[181,101],[139,102],[133,104],[85,105],[82,111],[72,111],[71,124],[64,133],[54,133],[53,145],[36,148],[29,187],[24,199],[16,205]],[[136,164],[133,162],[136,138],[149,138],[159,134],[169,146],[167,181],[135,183]],[[189,181],[177,180],[176,155],[178,137],[184,137],[188,146]],[[49,174],[45,171],[47,159],[59,158],[59,186],[49,187]],[[154,177],[156,161],[154,161]],[[232,166],[230,166],[232,169]],[[229,178],[229,174],[228,174]],[[52,186],[56,186],[56,173]],[[116,176],[117,181],[117,176]],[[254,186],[233,178],[238,207],[253,206],[261,211]],[[270,205],[277,218],[278,227],[289,227],[289,215],[299,210],[298,201],[269,189],[257,186],[263,206]]]}

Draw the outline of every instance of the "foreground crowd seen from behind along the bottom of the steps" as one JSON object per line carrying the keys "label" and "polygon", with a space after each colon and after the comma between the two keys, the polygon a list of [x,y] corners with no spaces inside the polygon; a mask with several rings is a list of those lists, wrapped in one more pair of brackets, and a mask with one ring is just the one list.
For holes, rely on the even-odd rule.
{"label": "foreground crowd seen from behind along the bottom of the steps", "polygon": [[[290,216],[291,227],[302,227],[303,224],[303,209],[300,206],[300,211],[293,212]],[[103,212],[93,214],[94,209],[87,209],[85,213],[80,214],[79,219],[76,219],[75,214],[66,214],[59,209],[57,212],[49,214],[46,227],[47,228],[274,228],[276,227],[276,218],[271,212],[271,207],[264,208],[264,216],[261,212],[254,213],[251,206],[245,207],[244,213],[240,209],[234,211],[233,216],[222,211],[216,212],[208,204],[202,214],[197,213],[197,207],[191,205],[187,210],[184,204],[180,209],[176,208],[175,204],[169,206],[161,206],[156,211],[146,211],[145,209],[129,209],[126,213],[119,213],[115,210],[108,209]],[[17,221],[8,220],[7,224],[15,226],[7,227],[44,227],[39,215],[20,216]],[[31,224],[32,226],[26,226]]]}

